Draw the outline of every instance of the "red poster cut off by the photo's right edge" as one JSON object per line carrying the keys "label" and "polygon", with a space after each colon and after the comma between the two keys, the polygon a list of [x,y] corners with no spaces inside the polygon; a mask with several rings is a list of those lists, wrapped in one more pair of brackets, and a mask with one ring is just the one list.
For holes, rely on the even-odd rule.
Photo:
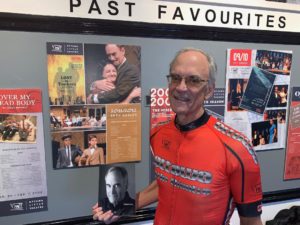
{"label": "red poster cut off by the photo's right edge", "polygon": [[289,112],[284,179],[300,178],[300,87],[293,87]]}

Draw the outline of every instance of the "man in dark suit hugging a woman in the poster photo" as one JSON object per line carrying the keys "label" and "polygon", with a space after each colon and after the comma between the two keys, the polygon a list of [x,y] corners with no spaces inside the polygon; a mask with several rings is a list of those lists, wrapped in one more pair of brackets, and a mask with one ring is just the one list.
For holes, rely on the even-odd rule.
{"label": "man in dark suit hugging a woman in the poster photo", "polygon": [[[135,65],[127,61],[124,46],[107,44],[105,51],[108,59],[117,68],[117,79],[115,85],[107,79],[95,81],[94,88],[103,93],[92,95],[91,101],[99,104],[122,102],[135,87],[140,86],[141,74]],[[131,102],[140,102],[140,99],[135,98]]]}

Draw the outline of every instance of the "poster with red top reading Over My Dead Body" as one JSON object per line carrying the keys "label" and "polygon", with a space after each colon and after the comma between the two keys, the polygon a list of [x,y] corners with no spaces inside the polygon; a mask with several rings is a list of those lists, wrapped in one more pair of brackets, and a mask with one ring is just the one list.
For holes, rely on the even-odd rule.
{"label": "poster with red top reading Over My Dead Body", "polygon": [[0,216],[45,211],[47,183],[40,89],[0,90]]}

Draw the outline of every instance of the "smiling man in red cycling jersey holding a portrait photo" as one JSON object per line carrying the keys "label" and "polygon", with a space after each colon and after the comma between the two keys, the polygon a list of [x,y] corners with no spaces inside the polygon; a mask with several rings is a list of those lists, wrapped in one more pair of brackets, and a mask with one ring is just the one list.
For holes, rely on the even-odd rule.
{"label": "smiling man in red cycling jersey holding a portrait photo", "polygon": [[[250,141],[204,109],[215,72],[213,59],[197,49],[180,51],[170,64],[176,117],[151,132],[157,179],[136,196],[137,209],[158,200],[155,225],[227,225],[235,207],[241,225],[262,225],[260,171]],[[94,219],[118,219],[99,205]]]}

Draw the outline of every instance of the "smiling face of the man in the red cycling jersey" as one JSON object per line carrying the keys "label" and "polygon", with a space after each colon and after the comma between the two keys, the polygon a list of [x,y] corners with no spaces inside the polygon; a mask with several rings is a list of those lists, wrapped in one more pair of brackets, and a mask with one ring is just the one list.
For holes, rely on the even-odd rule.
{"label": "smiling face of the man in the red cycling jersey", "polygon": [[[173,68],[171,68],[171,73],[178,74],[183,78],[193,75],[207,81],[209,79],[208,66],[208,61],[203,54],[187,51],[177,57]],[[208,82],[202,82],[198,87],[188,87],[184,80],[178,85],[170,83],[170,104],[179,121],[180,117],[185,118],[186,123],[199,118],[204,110],[204,100],[210,97],[213,88]]]}

